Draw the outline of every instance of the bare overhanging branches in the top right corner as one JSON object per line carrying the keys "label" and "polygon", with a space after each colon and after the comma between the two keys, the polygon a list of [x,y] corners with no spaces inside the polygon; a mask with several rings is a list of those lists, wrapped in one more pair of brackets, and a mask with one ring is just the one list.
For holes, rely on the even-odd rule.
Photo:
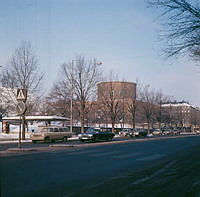
{"label": "bare overhanging branches in the top right corner", "polygon": [[166,48],[170,57],[189,54],[200,58],[200,4],[198,0],[149,0],[149,4],[162,9]]}

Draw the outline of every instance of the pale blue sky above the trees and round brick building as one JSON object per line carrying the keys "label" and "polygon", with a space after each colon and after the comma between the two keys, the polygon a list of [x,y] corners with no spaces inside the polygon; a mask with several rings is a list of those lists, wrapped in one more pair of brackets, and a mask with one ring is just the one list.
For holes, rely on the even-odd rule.
{"label": "pale blue sky above the trees and round brick building", "polygon": [[97,57],[120,79],[139,79],[200,106],[200,69],[186,57],[160,55],[158,14],[145,0],[0,0],[0,65],[27,40],[46,73],[46,88],[62,63],[81,54]]}

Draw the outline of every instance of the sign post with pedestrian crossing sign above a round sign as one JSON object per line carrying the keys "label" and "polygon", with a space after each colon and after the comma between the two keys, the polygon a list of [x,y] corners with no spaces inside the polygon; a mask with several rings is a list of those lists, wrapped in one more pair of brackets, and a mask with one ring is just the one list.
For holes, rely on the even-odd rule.
{"label": "sign post with pedestrian crossing sign above a round sign", "polygon": [[[18,148],[21,148],[21,139],[25,139],[25,113],[26,113],[26,99],[27,89],[17,89],[17,101],[16,106],[17,114],[19,115],[19,144]],[[21,121],[22,120],[22,121]],[[21,125],[22,122],[22,125]],[[22,134],[22,138],[21,138]]]}

